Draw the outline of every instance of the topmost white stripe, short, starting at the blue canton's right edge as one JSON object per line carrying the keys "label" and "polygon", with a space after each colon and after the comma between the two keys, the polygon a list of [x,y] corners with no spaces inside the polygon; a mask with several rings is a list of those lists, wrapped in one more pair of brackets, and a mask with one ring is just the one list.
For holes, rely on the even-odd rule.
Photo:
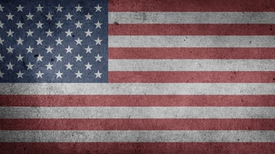
{"label": "topmost white stripe, short, starting at the blue canton's right edge", "polygon": [[275,12],[109,12],[109,23],[275,23]]}

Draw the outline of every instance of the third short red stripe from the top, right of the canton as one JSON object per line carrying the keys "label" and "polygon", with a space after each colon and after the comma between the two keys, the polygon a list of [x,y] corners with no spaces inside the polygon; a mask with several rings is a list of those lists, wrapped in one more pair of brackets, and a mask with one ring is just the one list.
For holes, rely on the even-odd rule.
{"label": "third short red stripe from the top, right of the canton", "polygon": [[274,48],[109,48],[109,59],[275,59]]}

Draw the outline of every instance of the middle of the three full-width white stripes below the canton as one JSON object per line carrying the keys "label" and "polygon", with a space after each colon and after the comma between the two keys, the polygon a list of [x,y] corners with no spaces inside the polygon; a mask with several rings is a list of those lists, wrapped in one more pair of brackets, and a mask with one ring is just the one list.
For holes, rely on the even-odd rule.
{"label": "middle of the three full-width white stripes below the canton", "polygon": [[275,118],[275,107],[0,107],[0,112],[0,118]]}

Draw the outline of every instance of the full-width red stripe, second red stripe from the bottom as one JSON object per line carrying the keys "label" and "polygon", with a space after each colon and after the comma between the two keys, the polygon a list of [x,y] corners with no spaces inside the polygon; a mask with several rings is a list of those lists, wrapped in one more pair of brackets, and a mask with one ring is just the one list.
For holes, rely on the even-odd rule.
{"label": "full-width red stripe, second red stripe from the bottom", "polygon": [[0,130],[274,130],[275,119],[0,119]]}

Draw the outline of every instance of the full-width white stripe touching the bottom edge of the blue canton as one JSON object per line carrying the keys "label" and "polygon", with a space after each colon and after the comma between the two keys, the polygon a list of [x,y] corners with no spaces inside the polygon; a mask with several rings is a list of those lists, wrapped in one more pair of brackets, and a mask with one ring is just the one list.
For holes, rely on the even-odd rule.
{"label": "full-width white stripe touching the bottom edge of the blue canton", "polygon": [[0,94],[275,94],[274,84],[0,84]]}

